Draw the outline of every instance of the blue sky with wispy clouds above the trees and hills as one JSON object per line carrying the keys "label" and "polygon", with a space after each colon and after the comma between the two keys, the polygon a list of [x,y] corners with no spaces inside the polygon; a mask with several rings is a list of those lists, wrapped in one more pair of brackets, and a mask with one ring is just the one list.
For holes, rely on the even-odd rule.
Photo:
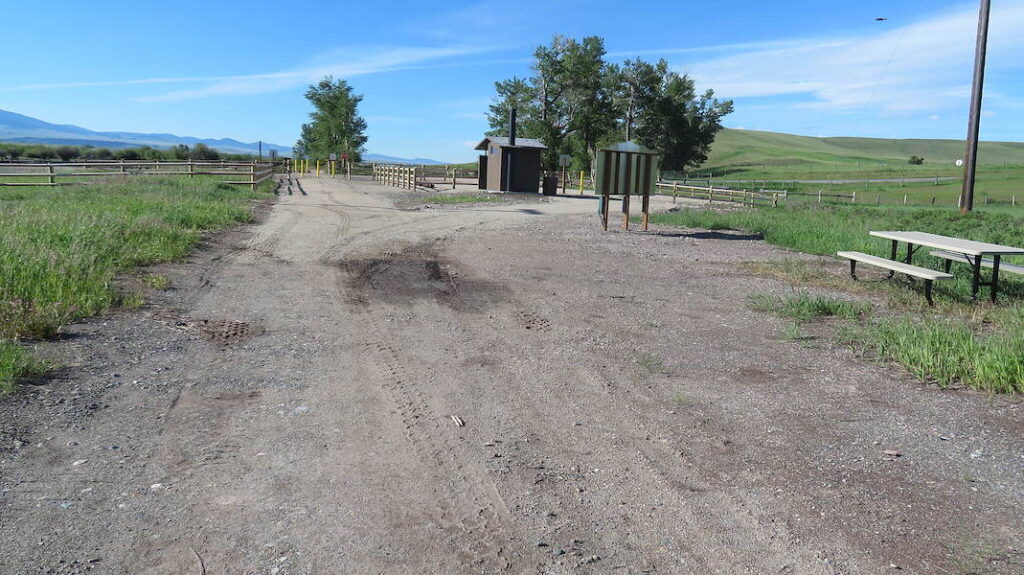
{"label": "blue sky with wispy clouds above the trees and hills", "polygon": [[[987,140],[1024,141],[1024,0],[992,2]],[[735,101],[726,126],[964,138],[977,1],[178,1],[4,6],[0,108],[100,131],[295,142],[325,75],[365,96],[367,148],[471,161],[494,82],[555,34],[666,58]],[[888,19],[876,21],[876,17]]]}

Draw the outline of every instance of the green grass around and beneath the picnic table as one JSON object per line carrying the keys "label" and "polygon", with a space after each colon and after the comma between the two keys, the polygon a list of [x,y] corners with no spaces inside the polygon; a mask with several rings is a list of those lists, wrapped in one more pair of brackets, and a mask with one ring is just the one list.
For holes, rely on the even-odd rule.
{"label": "green grass around and beneath the picnic table", "polygon": [[[949,208],[810,205],[803,207],[683,210],[654,214],[651,221],[702,229],[739,229],[765,240],[809,254],[833,256],[854,250],[889,256],[889,242],[867,234],[872,229],[912,229],[1009,246],[1024,246],[1024,214],[992,208],[962,216]],[[1020,258],[1008,262],[1024,263]],[[916,265],[941,269],[940,260],[921,254]],[[926,381],[943,386],[969,385],[997,393],[1024,393],[1024,278],[1004,274],[997,305],[970,300],[965,266],[956,278],[936,286],[937,306],[928,308],[920,285],[890,281],[853,281],[806,263],[752,266],[795,284],[827,286],[888,296],[885,313],[861,316],[845,303],[814,301],[806,295],[756,298],[757,309],[800,320],[839,315],[850,322],[843,340],[898,361]],[[983,294],[984,295],[984,294]],[[859,318],[855,318],[855,316]]]}

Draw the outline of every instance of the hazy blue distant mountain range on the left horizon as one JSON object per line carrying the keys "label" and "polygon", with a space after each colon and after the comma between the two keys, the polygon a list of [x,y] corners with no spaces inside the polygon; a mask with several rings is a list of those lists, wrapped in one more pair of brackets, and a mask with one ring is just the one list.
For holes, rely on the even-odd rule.
{"label": "hazy blue distant mountain range on the left horizon", "polygon": [[[178,144],[189,147],[202,143],[225,153],[259,152],[258,142],[240,142],[230,138],[201,139],[174,134],[140,134],[136,132],[94,132],[70,124],[50,124],[35,118],[0,109],[0,141],[39,143],[49,145],[91,145],[96,147],[123,148],[147,145],[169,148]],[[263,153],[271,149],[281,156],[291,156],[292,147],[263,142]],[[407,160],[391,156],[365,153],[365,160],[394,164],[444,164],[436,160],[416,158]]]}

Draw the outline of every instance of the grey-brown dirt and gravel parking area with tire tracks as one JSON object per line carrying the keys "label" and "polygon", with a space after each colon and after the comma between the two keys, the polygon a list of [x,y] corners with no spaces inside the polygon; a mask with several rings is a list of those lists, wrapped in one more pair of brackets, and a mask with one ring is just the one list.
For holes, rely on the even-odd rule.
{"label": "grey-brown dirt and gravel parking area with tire tracks", "polygon": [[303,189],[40,345],[0,573],[1024,573],[1021,403],[781,337],[808,256]]}

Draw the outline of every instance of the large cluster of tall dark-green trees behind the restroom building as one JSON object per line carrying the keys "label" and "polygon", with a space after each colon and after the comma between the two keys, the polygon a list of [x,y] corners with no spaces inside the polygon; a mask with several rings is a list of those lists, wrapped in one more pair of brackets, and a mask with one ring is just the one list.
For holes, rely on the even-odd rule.
{"label": "large cluster of tall dark-green trees behind the restroom building", "polygon": [[599,145],[621,139],[657,150],[669,170],[707,160],[732,102],[715,99],[711,90],[697,96],[693,81],[665,60],[616,65],[604,56],[604,41],[596,36],[579,42],[555,36],[540,46],[530,78],[495,84],[488,134],[504,135],[508,112],[516,107],[518,135],[548,146],[549,169],[559,153],[571,153],[574,169],[589,169]]}

